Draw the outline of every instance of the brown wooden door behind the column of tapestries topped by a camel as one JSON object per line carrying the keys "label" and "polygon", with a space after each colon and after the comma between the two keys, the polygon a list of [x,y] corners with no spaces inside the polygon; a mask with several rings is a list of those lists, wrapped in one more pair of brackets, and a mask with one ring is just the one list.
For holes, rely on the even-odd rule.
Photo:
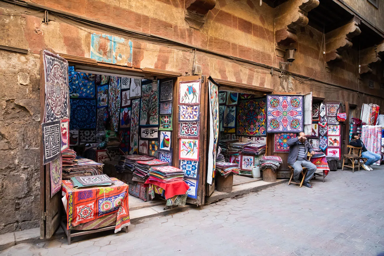
{"label": "brown wooden door behind the column of tapestries topped by a camel", "polygon": [[[174,95],[174,101],[173,101],[173,132],[172,132],[172,147],[173,147],[173,156],[172,156],[172,165],[176,167],[180,167],[180,159],[179,159],[179,152],[180,152],[180,138],[178,138],[179,134],[179,99],[180,99],[180,82],[187,82],[187,81],[196,81],[200,80],[200,105],[199,105],[199,111],[200,111],[200,119],[199,119],[199,129],[200,129],[200,136],[199,136],[199,170],[198,170],[198,177],[197,177],[197,190],[195,197],[196,198],[187,198],[187,203],[193,203],[195,205],[202,205],[204,203],[204,185],[205,185],[205,175],[206,175],[206,154],[207,151],[207,86],[206,86],[206,77],[205,76],[180,76],[176,79],[176,82],[174,84],[173,88],[173,95]],[[188,183],[188,181],[187,181]]]}

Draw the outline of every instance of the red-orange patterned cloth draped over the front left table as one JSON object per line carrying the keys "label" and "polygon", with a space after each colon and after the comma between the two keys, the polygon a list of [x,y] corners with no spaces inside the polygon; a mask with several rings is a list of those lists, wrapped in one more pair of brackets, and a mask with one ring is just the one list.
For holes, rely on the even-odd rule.
{"label": "red-orange patterned cloth draped over the front left table", "polygon": [[67,215],[67,229],[82,223],[116,215],[115,233],[131,224],[128,208],[128,185],[111,178],[109,187],[74,188],[70,180],[63,180],[62,194]]}

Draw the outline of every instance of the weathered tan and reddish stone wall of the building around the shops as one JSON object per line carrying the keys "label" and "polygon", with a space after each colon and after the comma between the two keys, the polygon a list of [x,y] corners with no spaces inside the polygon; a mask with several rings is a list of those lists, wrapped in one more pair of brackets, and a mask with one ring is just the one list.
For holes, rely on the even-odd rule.
{"label": "weathered tan and reddish stone wall of the building around the shops", "polygon": [[[116,26],[164,36],[172,40],[207,48],[233,57],[279,66],[274,44],[274,9],[252,1],[219,0],[207,14],[200,30],[184,20],[185,3],[176,0],[35,0],[50,8],[71,12]],[[101,11],[102,10],[102,11]],[[109,33],[79,24],[66,23],[50,16],[43,23],[42,13],[22,14],[23,8],[0,2],[0,45],[29,49],[28,54],[0,50],[0,207],[7,209],[0,220],[0,233],[39,225],[40,164],[40,51],[89,58],[91,33]],[[11,13],[16,13],[13,15]],[[358,76],[358,53],[343,52],[343,60],[327,65],[321,53],[322,34],[309,26],[298,31],[296,60],[287,70],[315,78],[309,81],[283,76],[270,68],[197,51],[184,46],[161,45],[146,40],[131,40],[132,67],[155,68],[192,74],[193,63],[202,66],[203,74],[213,78],[252,84],[275,91],[310,92],[332,100],[376,103],[382,98],[342,90],[337,84],[364,93],[382,95],[380,75],[383,66],[372,64],[372,74]],[[123,49],[123,51],[125,51]],[[320,53],[320,54],[319,54]],[[286,80],[284,80],[286,79]],[[368,88],[368,81],[375,88]]]}

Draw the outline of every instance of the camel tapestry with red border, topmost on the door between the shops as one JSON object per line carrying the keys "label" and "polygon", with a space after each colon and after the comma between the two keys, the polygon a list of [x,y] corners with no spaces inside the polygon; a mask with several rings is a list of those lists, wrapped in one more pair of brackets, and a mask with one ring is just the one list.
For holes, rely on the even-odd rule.
{"label": "camel tapestry with red border, topmost on the door between the shops", "polygon": [[180,82],[179,105],[200,104],[200,80]]}

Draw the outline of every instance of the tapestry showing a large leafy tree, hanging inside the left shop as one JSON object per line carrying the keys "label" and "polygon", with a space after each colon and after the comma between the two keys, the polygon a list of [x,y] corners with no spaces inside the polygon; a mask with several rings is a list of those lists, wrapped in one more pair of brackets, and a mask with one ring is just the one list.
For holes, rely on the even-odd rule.
{"label": "tapestry showing a large leafy tree, hanging inside the left shop", "polygon": [[152,84],[142,85],[140,103],[140,126],[159,125],[159,91],[152,90]]}

